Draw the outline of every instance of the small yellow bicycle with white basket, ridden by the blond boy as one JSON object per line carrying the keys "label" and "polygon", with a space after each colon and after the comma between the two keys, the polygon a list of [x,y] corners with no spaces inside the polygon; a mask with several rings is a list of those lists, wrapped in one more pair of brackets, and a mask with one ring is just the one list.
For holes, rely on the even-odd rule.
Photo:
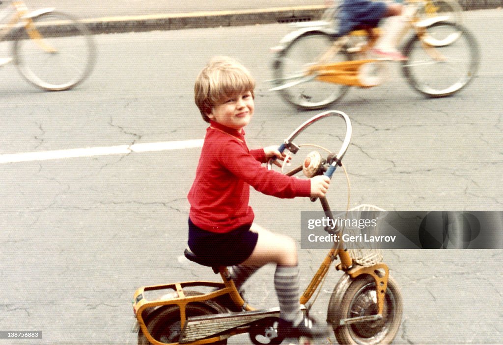
{"label": "small yellow bicycle with white basket, ridden by the blond boy", "polygon": [[[345,138],[337,154],[317,144],[297,145],[293,142],[301,133],[309,136],[309,131],[314,128],[310,126],[314,123],[319,124],[318,121],[322,119],[334,117],[346,122]],[[309,131],[307,128],[310,128]],[[327,130],[326,125],[321,128]],[[295,155],[301,148],[315,147],[327,152],[326,158],[321,158],[318,151],[312,151],[299,166],[284,174],[292,176],[304,171],[308,178],[321,174],[331,178],[337,166],[344,168],[342,159],[350,144],[351,134],[351,121],[343,112],[325,111],[310,118],[288,136],[281,144],[280,151],[287,150],[289,155]],[[332,133],[329,140],[333,141],[331,135]],[[314,158],[314,152],[317,152],[319,159]],[[272,169],[273,160],[267,166]],[[346,177],[348,178],[347,174]],[[326,196],[319,198],[319,201],[322,214],[327,218],[337,219],[337,216],[332,215]],[[347,214],[357,212],[361,216],[362,212],[366,212],[367,217],[370,214],[373,219],[377,219],[381,211],[383,210],[364,205],[348,210]],[[325,230],[335,238],[348,229],[340,227]],[[214,263],[197,257],[188,249],[185,250],[185,256],[198,264],[213,267],[215,273],[220,273],[222,281],[188,281],[138,288],[133,296],[135,325],[132,330],[138,333],[139,345],[225,344],[228,337],[241,333],[248,333],[255,344],[279,344],[283,341],[277,331],[279,308],[255,309],[243,300],[226,267],[214,267]],[[329,268],[337,257],[341,262],[336,269],[344,274],[330,297],[327,322],[338,341],[348,344],[390,343],[401,324],[402,297],[397,284],[389,275],[388,266],[382,262],[382,252],[377,249],[348,250],[342,239],[334,240],[300,297],[303,311],[309,312],[317,297],[316,295],[312,300],[314,292],[318,290],[319,294]],[[200,292],[202,289],[208,291]],[[169,293],[154,298],[147,297],[147,294],[162,293],[165,290],[169,290]]]}

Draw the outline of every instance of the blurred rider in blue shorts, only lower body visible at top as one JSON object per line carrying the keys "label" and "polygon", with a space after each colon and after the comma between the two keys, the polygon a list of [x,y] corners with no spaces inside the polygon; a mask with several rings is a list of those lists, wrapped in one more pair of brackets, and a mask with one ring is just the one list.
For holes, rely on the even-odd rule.
{"label": "blurred rider in blue shorts, only lower body visible at top", "polygon": [[402,15],[403,6],[397,3],[372,0],[344,0],[341,6],[339,33],[346,35],[357,27],[375,28],[381,19],[387,20],[384,33],[379,37],[372,53],[393,61],[403,61],[404,57],[397,49],[398,41],[407,30],[406,20]]}

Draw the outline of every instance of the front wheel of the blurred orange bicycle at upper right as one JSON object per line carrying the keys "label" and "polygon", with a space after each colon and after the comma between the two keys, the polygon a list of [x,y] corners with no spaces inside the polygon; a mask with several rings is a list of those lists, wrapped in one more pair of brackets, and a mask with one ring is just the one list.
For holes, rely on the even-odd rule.
{"label": "front wheel of the blurred orange bicycle at upper right", "polygon": [[428,37],[461,35],[434,46],[420,36],[412,37],[404,48],[408,59],[402,63],[402,72],[410,86],[428,97],[452,95],[468,85],[477,72],[477,42],[469,31],[454,23],[438,22],[427,32]]}

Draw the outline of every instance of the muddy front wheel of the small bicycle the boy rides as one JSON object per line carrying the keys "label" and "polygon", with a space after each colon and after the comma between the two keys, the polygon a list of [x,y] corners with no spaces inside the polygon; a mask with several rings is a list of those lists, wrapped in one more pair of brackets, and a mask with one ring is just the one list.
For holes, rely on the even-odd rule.
{"label": "muddy front wheel of the small bicycle the boy rides", "polygon": [[401,292],[391,276],[388,277],[382,319],[339,324],[341,319],[377,313],[375,290],[374,278],[363,275],[352,280],[340,298],[330,299],[328,312],[334,314],[332,328],[340,344],[389,344],[395,338],[401,324],[403,302]]}

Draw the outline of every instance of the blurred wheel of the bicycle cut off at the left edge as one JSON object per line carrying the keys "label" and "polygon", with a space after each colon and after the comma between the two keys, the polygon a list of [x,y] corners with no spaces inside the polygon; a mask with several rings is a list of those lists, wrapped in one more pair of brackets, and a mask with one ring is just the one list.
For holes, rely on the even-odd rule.
{"label": "blurred wheel of the bicycle cut off at the left edge", "polygon": [[21,27],[13,48],[16,66],[28,82],[43,90],[62,91],[89,77],[96,46],[85,25],[62,12],[44,13],[32,22],[41,39],[30,39],[28,29]]}

